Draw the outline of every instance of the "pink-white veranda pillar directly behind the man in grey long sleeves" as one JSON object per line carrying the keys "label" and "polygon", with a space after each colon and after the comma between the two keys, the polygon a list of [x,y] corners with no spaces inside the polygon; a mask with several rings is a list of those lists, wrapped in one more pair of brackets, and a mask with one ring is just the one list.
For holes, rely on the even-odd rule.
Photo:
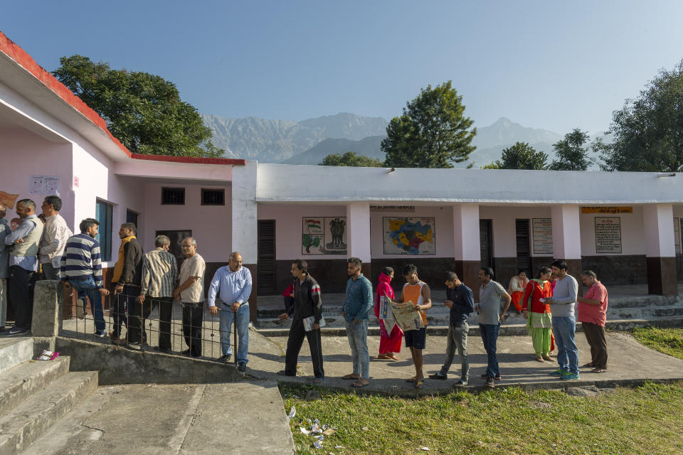
{"label": "pink-white veranda pillar directly behind the man in grey long sleeves", "polygon": [[578,205],[561,204],[551,207],[553,257],[567,263],[568,273],[576,278],[581,292],[581,225],[578,215]]}

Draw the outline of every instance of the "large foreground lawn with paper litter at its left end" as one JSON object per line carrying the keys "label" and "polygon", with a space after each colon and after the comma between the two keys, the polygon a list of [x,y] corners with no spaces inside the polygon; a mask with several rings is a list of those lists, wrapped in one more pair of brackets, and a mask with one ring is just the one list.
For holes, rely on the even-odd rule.
{"label": "large foreground lawn with paper litter at its left end", "polygon": [[[287,412],[297,408],[290,426],[298,454],[683,453],[683,382],[593,398],[517,388],[416,400],[320,390],[321,400],[307,402],[310,388],[280,386]],[[337,427],[322,450],[296,425],[305,419]]]}

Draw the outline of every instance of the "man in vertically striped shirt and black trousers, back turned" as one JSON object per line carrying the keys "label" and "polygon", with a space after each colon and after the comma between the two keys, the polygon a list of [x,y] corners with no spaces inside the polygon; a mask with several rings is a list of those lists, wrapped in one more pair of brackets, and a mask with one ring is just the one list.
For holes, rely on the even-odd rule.
{"label": "man in vertically striped shirt and black trousers, back turned", "polygon": [[128,309],[128,347],[142,349],[147,341],[144,319],[149,318],[159,304],[159,350],[171,351],[171,314],[173,311],[173,290],[178,280],[176,258],[169,253],[171,240],[166,235],[157,235],[154,250],[142,257],[142,279],[137,305]]}

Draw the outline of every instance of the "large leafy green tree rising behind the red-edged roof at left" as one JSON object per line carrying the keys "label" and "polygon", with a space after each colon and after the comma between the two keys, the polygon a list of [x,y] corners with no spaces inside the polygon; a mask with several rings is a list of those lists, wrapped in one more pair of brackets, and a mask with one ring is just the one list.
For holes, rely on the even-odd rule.
{"label": "large leafy green tree rising behind the red-edged roof at left", "polygon": [[83,55],[60,58],[53,75],[105,119],[114,137],[133,153],[223,156],[211,143],[192,105],[180,100],[176,86],[162,77],[112,70]]}

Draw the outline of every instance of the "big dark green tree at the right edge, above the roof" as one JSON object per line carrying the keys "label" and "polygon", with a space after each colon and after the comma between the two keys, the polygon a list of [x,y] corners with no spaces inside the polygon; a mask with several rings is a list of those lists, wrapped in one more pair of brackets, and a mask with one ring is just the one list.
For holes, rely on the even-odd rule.
{"label": "big dark green tree at the right edge, above the roof", "polygon": [[613,112],[608,134],[595,144],[603,171],[683,171],[683,60]]}

